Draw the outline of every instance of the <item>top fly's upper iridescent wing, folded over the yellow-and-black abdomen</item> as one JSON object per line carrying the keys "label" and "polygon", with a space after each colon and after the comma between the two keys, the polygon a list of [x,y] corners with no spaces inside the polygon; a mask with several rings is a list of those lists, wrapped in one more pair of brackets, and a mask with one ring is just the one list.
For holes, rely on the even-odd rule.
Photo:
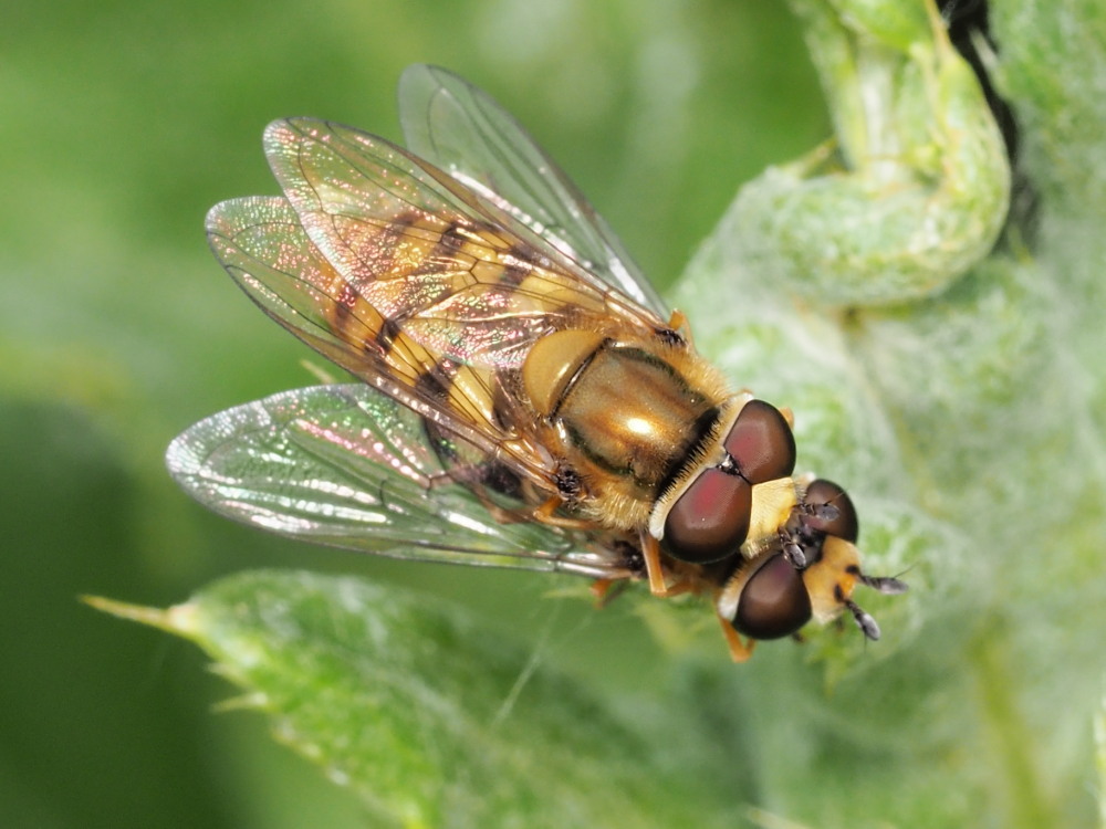
{"label": "top fly's upper iridescent wing, folded over the yellow-and-black abdomen", "polygon": [[[494,308],[486,324],[532,317],[536,330],[543,316],[550,325],[588,316],[643,333],[666,327],[667,317],[582,267],[501,203],[383,138],[290,118],[269,125],[265,155],[326,261],[363,295],[392,298],[397,313],[413,301],[432,307],[450,297],[453,313],[462,304]],[[390,296],[388,286],[403,290]]]}

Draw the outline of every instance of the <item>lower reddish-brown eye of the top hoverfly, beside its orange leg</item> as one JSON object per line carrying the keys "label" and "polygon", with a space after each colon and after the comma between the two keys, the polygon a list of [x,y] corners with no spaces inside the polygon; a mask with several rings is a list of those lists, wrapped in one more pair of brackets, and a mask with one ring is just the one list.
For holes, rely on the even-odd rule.
{"label": "lower reddish-brown eye of the top hoverfly, beside its orange leg", "polygon": [[732,556],[749,534],[752,506],[748,481],[717,468],[703,470],[668,511],[661,546],[691,564]]}

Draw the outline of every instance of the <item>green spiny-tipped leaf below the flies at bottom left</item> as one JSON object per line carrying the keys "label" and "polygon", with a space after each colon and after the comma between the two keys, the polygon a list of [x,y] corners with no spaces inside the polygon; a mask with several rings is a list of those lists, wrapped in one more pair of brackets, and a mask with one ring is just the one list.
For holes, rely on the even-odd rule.
{"label": "green spiny-tipped leaf below the flies at bottom left", "polygon": [[691,769],[666,768],[647,728],[459,608],[279,571],[165,611],[93,601],[195,641],[242,689],[228,707],[271,715],[279,739],[396,825],[722,825],[720,804],[700,812]]}

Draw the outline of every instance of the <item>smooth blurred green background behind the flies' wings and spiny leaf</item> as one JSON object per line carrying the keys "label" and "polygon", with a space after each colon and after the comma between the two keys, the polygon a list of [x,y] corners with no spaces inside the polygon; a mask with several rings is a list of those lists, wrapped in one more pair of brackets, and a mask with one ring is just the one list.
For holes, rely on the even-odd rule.
{"label": "smooth blurred green background behind the flies' wings and spiny leaf", "polygon": [[540,576],[294,545],[206,513],[164,472],[191,422],[314,382],[306,349],[208,252],[204,213],[275,191],[260,147],[275,117],[398,138],[395,83],[414,62],[515,113],[661,284],[742,181],[828,133],[800,33],[764,0],[9,3],[0,826],[364,823],[260,717],[212,714],[231,691],[194,647],[81,594],[166,605],[249,567],[362,573],[510,619],[609,693],[664,675],[629,602],[596,613]]}

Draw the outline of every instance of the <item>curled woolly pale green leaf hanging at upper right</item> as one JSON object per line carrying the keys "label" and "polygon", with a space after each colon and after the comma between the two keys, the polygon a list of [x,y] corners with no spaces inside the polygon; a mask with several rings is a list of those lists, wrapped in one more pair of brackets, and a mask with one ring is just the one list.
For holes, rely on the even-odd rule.
{"label": "curled woolly pale green leaf hanging at upper right", "polygon": [[740,260],[822,305],[931,295],[988,253],[1006,214],[1010,170],[979,82],[932,4],[792,6],[836,143],[742,189]]}

